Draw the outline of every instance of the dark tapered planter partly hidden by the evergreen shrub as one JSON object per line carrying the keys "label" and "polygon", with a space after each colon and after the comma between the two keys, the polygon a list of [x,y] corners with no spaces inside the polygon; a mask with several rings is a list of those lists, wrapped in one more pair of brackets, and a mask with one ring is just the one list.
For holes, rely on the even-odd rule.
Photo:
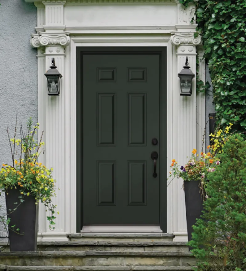
{"label": "dark tapered planter partly hidden by the evergreen shrub", "polygon": [[[201,196],[199,184],[200,181],[184,181],[188,241],[192,239],[192,226],[196,223],[196,219],[200,218],[203,211],[203,196]],[[192,247],[189,247],[190,250]]]}

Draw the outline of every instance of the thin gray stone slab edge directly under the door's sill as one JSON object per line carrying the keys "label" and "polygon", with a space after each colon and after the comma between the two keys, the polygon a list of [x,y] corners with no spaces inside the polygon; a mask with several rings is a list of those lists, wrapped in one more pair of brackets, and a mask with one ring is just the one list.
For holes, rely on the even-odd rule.
{"label": "thin gray stone slab edge directly under the door's sill", "polygon": [[68,238],[174,238],[170,233],[72,233],[67,236]]}

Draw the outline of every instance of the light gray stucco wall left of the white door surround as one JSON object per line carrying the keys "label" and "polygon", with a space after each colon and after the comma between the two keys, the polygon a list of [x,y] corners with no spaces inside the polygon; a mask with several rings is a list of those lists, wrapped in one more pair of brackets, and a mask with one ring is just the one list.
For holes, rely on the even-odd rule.
{"label": "light gray stucco wall left of the white door surround", "polygon": [[[30,47],[37,9],[24,0],[0,0],[0,164],[10,161],[6,128],[13,134],[16,113],[24,125],[37,122],[37,50]],[[0,197],[0,213],[5,199]],[[0,225],[0,237],[6,236]],[[1,240],[1,238],[0,238]]]}

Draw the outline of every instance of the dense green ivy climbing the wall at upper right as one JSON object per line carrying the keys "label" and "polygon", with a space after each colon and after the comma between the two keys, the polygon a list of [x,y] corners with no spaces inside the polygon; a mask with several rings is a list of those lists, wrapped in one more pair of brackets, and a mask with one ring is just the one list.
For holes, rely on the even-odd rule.
{"label": "dense green ivy climbing the wall at upper right", "polygon": [[[179,0],[196,8],[213,87],[216,119],[222,127],[246,131],[246,1]],[[194,20],[194,19],[193,19]],[[193,21],[192,20],[192,21]]]}

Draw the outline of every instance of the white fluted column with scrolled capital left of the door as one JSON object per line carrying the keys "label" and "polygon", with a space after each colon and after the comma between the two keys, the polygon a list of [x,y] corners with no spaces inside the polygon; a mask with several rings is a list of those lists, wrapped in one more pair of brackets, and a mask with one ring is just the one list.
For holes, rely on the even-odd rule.
{"label": "white fluted column with scrolled capital left of the door", "polygon": [[[71,232],[71,201],[69,180],[69,165],[66,165],[68,157],[65,155],[66,141],[66,74],[65,74],[65,48],[70,43],[70,36],[65,32],[64,4],[66,1],[45,0],[38,6],[39,12],[44,14],[45,20],[39,22],[37,34],[33,34],[30,44],[38,48],[38,121],[45,131],[45,154],[40,157],[40,162],[48,168],[53,168],[53,178],[57,181],[56,197],[52,203],[57,205],[55,229],[49,229],[46,219],[47,213],[44,206],[39,211],[39,240],[63,241],[67,240],[67,233]],[[44,24],[45,23],[45,24]],[[43,24],[43,25],[42,25]],[[44,30],[44,31],[43,31]],[[51,59],[55,59],[58,71],[62,74],[60,81],[60,95],[48,96],[47,80],[44,73],[51,66]],[[68,127],[67,127],[68,128]],[[41,130],[41,129],[40,129]],[[66,182],[67,181],[67,182]],[[57,214],[59,212],[59,215]]]}

